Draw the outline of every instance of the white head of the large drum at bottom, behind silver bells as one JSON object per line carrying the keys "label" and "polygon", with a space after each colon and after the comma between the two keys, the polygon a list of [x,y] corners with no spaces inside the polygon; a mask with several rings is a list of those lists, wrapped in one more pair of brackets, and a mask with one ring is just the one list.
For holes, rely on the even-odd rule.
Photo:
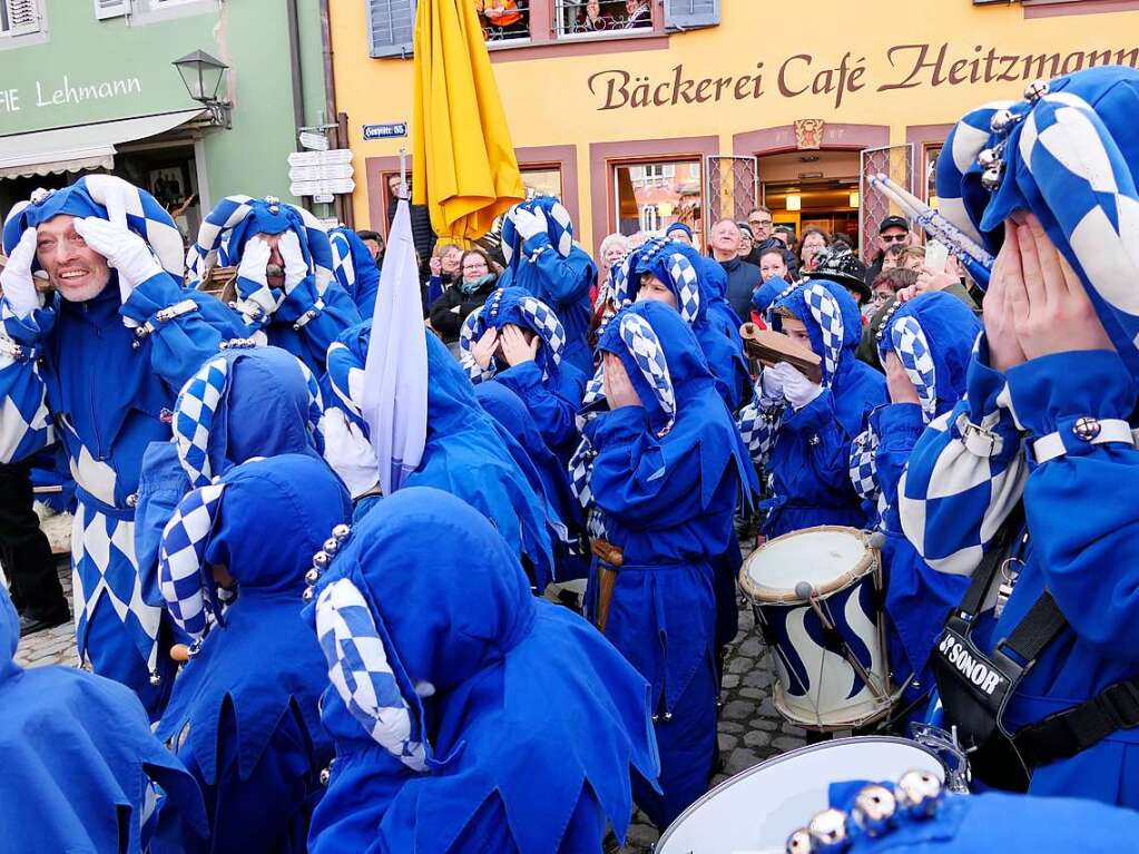
{"label": "white head of the large drum at bottom, behind silver bells", "polygon": [[932,753],[900,738],[845,738],[777,756],[736,774],[688,807],[655,854],[782,854],[792,831],[826,810],[830,783],[896,780],[910,770],[944,781]]}

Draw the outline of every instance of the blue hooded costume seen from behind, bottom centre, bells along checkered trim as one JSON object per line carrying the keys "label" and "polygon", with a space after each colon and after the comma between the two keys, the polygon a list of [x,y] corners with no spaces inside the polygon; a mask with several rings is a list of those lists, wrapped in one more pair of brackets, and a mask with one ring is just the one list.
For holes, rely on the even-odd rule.
{"label": "blue hooded costume seen from behind, bottom centre, bells along checkered trim", "polygon": [[596,854],[653,780],[648,685],[592,627],[531,596],[453,495],[404,487],[351,532],[305,614],[336,742],[312,854]]}

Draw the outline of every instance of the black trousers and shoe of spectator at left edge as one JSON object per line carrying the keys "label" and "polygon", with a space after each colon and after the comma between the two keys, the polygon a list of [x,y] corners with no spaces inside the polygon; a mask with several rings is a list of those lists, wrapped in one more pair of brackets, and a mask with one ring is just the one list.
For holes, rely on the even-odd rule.
{"label": "black trousers and shoe of spectator at left edge", "polygon": [[40,531],[33,503],[28,463],[0,463],[0,565],[19,610],[22,638],[71,619],[51,545]]}

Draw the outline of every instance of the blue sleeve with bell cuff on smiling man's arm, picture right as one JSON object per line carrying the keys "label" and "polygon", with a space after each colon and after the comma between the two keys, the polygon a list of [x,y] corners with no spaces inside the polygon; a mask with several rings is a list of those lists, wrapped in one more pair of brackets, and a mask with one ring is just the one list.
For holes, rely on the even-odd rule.
{"label": "blue sleeve with bell cuff on smiling man's arm, picture right", "polygon": [[183,290],[173,277],[159,273],[134,288],[120,309],[138,325],[136,334],[149,330],[144,337],[150,340],[150,366],[174,389],[218,352],[223,338],[231,337],[206,319],[199,299],[208,297]]}

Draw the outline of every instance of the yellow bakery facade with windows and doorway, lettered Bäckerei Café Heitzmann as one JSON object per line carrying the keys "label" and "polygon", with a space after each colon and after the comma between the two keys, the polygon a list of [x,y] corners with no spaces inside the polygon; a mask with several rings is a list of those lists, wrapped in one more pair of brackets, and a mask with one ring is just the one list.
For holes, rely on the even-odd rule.
{"label": "yellow bakery facade with windows and doorway, lettered B\u00e4ckerei Caf\u00e9 Heitzmann", "polygon": [[[678,220],[703,237],[756,203],[796,232],[818,225],[869,249],[888,206],[867,175],[936,204],[931,165],[967,109],[1039,79],[1139,67],[1136,0],[801,6],[518,3],[523,20],[485,33],[527,188],[562,197],[591,251]],[[368,128],[411,117],[413,13],[413,0],[329,3],[357,228],[386,228],[388,178],[410,149]]]}

